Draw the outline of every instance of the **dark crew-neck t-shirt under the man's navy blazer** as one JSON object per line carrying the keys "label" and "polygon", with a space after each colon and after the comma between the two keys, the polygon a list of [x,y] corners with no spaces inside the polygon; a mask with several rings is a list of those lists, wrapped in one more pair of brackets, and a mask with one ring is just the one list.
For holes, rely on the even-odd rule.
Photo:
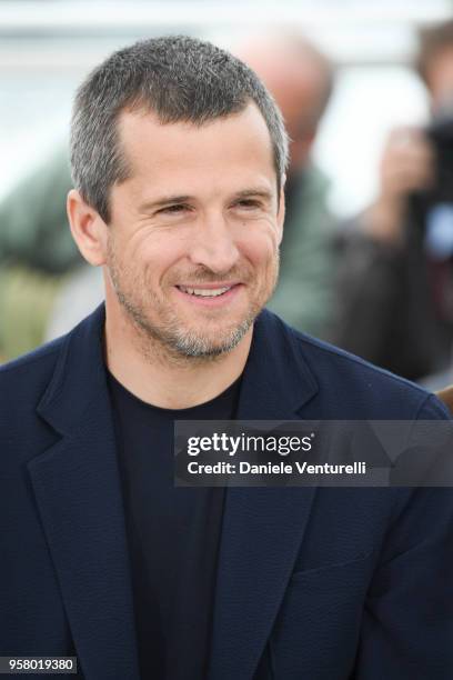
{"label": "dark crew-neck t-shirt under the man's navy blazer", "polygon": [[240,379],[207,403],[150,406],[109,374],[130,550],[142,680],[200,680],[211,617],[224,489],[173,486],[174,420],[234,418]]}

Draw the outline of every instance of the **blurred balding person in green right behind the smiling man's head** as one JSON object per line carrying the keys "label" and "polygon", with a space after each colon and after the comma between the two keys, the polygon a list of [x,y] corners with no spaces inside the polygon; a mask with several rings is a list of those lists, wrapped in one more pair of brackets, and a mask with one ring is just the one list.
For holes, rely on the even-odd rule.
{"label": "blurred balding person in green right behind the smiling man's head", "polygon": [[291,140],[280,282],[268,307],[294,328],[323,338],[333,308],[335,220],[328,208],[329,181],[311,151],[334,69],[305,37],[284,29],[249,37],[234,51],[274,97]]}

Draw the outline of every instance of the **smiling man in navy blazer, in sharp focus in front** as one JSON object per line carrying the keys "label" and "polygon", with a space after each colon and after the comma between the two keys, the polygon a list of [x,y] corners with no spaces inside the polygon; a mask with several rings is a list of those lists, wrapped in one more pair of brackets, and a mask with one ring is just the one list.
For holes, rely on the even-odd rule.
{"label": "smiling man in navy blazer, in sharp focus in front", "polygon": [[139,42],[80,88],[71,148],[105,307],[0,370],[1,654],[88,680],[450,677],[450,489],[173,486],[178,419],[446,418],[262,311],[288,158],[262,83]]}

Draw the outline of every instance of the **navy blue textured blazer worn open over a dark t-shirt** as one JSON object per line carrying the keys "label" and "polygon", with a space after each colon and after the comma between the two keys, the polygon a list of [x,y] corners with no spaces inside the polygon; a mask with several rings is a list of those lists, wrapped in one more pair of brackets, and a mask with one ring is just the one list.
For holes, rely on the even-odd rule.
{"label": "navy blue textured blazer worn open over a dark t-shirt", "polygon": [[[101,307],[0,369],[0,654],[72,654],[85,680],[138,680],[103,321]],[[447,413],[264,311],[238,417]],[[228,489],[210,680],[451,680],[452,493]]]}

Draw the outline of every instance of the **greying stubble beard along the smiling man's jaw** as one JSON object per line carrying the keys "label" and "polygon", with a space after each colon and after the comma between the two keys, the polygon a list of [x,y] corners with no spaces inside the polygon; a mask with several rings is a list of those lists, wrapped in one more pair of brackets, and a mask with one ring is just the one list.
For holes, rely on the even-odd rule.
{"label": "greying stubble beard along the smiling man's jaw", "polygon": [[[147,356],[155,356],[155,353],[162,356],[163,353],[177,361],[181,359],[212,361],[238,347],[272,296],[278,281],[279,253],[271,263],[270,276],[268,274],[266,284],[263,286],[264,290],[261,290],[251,301],[245,318],[217,340],[184,328],[183,322],[181,323],[181,319],[169,303],[160,300],[147,286],[145,279],[119,262],[111,239],[108,243],[107,264],[117,298],[139,332],[141,348]],[[205,270],[204,274],[199,272],[197,277],[191,278],[191,281],[205,283],[209,277],[212,280],[214,274]],[[219,281],[219,277],[215,277],[215,280]],[[142,291],[147,291],[147,299],[142,297]],[[150,319],[147,313],[149,308],[153,309],[155,318],[160,320],[159,324]]]}

